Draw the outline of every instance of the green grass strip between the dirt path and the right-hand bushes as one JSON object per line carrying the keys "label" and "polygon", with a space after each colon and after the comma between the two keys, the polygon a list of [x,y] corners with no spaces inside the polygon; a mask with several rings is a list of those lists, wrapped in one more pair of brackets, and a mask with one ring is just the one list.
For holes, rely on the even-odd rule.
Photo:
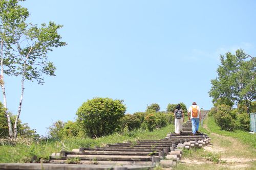
{"label": "green grass strip between the dirt path and the right-hand bushes", "polygon": [[207,124],[210,132],[239,139],[242,143],[248,144],[250,147],[256,149],[256,134],[251,134],[241,130],[233,132],[221,130],[220,127],[216,125],[214,118],[211,116],[207,117],[204,123]]}

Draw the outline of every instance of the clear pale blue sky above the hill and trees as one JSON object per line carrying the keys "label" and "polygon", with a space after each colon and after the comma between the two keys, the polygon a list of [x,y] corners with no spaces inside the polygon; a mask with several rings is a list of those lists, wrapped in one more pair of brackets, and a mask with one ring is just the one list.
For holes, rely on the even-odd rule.
{"label": "clear pale blue sky above the hill and trees", "polygon": [[[256,1],[27,0],[29,22],[55,21],[67,46],[49,53],[56,77],[25,83],[20,119],[41,135],[75,120],[94,97],[122,99],[126,113],[158,103],[212,107],[210,80],[219,57],[238,48],[256,56]],[[17,113],[20,79],[6,77]]]}

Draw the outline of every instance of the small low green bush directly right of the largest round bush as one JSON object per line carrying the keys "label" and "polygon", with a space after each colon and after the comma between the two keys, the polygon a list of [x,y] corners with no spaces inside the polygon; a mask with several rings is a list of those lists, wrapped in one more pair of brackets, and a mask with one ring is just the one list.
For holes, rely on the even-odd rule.
{"label": "small low green bush directly right of the largest round bush", "polygon": [[125,114],[121,119],[121,128],[124,129],[125,127],[128,128],[129,131],[133,129],[138,129],[140,128],[140,119],[137,118],[135,115],[131,114]]}

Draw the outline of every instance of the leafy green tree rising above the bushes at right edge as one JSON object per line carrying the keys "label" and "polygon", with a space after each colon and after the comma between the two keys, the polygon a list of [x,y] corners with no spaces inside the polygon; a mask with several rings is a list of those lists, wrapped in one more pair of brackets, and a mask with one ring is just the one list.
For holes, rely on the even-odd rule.
{"label": "leafy green tree rising above the bushes at right edge", "polygon": [[221,65],[217,69],[218,77],[211,80],[209,95],[212,102],[228,99],[234,103],[245,102],[249,113],[251,102],[256,100],[256,70],[254,58],[248,58],[243,50],[237,50],[236,55],[226,53],[221,55]]}

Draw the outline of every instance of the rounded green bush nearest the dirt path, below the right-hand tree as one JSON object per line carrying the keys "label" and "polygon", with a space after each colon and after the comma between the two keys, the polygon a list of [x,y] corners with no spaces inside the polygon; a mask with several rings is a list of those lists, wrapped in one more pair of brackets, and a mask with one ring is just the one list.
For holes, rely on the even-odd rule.
{"label": "rounded green bush nearest the dirt path, below the right-hand tree", "polygon": [[231,111],[230,106],[220,105],[215,111],[215,121],[222,130],[233,131],[236,128],[236,113]]}

